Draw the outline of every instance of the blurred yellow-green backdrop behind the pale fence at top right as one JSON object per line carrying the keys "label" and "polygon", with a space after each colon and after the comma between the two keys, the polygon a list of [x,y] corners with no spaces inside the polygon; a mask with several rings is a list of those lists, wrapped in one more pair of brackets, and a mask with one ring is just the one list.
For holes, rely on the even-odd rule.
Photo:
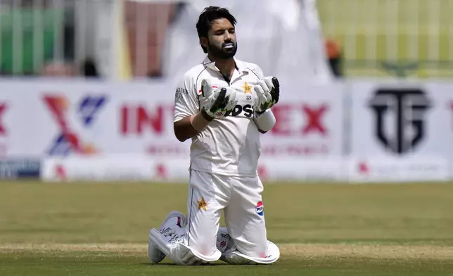
{"label": "blurred yellow-green backdrop behind the pale fence at top right", "polygon": [[[324,35],[343,46],[350,77],[453,77],[453,1],[317,0]],[[414,65],[414,67],[412,67]]]}

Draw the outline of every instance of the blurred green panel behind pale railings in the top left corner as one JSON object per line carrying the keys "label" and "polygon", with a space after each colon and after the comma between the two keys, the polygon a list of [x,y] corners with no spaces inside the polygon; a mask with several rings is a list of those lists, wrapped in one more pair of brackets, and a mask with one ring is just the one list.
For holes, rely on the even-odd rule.
{"label": "blurred green panel behind pale railings in the top left corner", "polygon": [[[63,31],[63,10],[55,8],[20,8],[11,11],[0,11],[0,31],[1,31],[1,71],[4,74],[13,74],[13,64],[15,51],[20,51],[23,57],[22,66],[19,66],[19,75],[34,72],[34,18],[42,20],[43,45],[42,53],[38,53],[43,60],[53,57],[53,42],[58,39],[56,30]],[[23,44],[19,49],[13,49],[13,24],[19,22],[23,34]],[[16,25],[17,26],[17,25]],[[58,29],[56,29],[58,26]],[[62,32],[59,32],[62,34]]]}

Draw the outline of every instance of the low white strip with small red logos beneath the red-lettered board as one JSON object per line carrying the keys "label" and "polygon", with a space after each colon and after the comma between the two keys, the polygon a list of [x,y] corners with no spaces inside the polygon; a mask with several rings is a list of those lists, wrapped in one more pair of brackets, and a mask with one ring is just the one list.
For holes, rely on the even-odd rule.
{"label": "low white strip with small red logos beneath the red-lettered board", "polygon": [[[282,181],[347,180],[341,158],[299,157],[260,161],[258,173],[264,184]],[[189,160],[154,156],[68,156],[48,157],[42,163],[41,178],[66,181],[189,181]]]}

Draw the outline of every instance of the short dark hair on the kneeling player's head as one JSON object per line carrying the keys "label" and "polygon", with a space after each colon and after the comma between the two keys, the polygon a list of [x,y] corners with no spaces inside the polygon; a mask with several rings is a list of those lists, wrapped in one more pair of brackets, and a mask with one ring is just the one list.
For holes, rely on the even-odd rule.
{"label": "short dark hair on the kneeling player's head", "polygon": [[[233,26],[236,25],[236,18],[229,13],[227,8],[220,8],[219,6],[206,7],[203,12],[200,13],[196,24],[198,37],[208,37],[208,31],[211,28],[212,21],[220,18],[229,20]],[[205,47],[201,46],[201,48],[203,48],[205,53],[208,53]]]}

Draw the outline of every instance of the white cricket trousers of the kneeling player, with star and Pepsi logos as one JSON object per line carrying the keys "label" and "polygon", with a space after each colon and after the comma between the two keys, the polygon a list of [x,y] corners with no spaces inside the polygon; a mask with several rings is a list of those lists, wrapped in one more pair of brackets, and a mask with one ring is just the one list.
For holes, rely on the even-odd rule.
{"label": "white cricket trousers of the kneeling player, with star and Pepsi logos", "polygon": [[205,256],[216,251],[222,210],[236,248],[250,257],[267,253],[260,177],[231,177],[191,170],[187,199],[187,242]]}

